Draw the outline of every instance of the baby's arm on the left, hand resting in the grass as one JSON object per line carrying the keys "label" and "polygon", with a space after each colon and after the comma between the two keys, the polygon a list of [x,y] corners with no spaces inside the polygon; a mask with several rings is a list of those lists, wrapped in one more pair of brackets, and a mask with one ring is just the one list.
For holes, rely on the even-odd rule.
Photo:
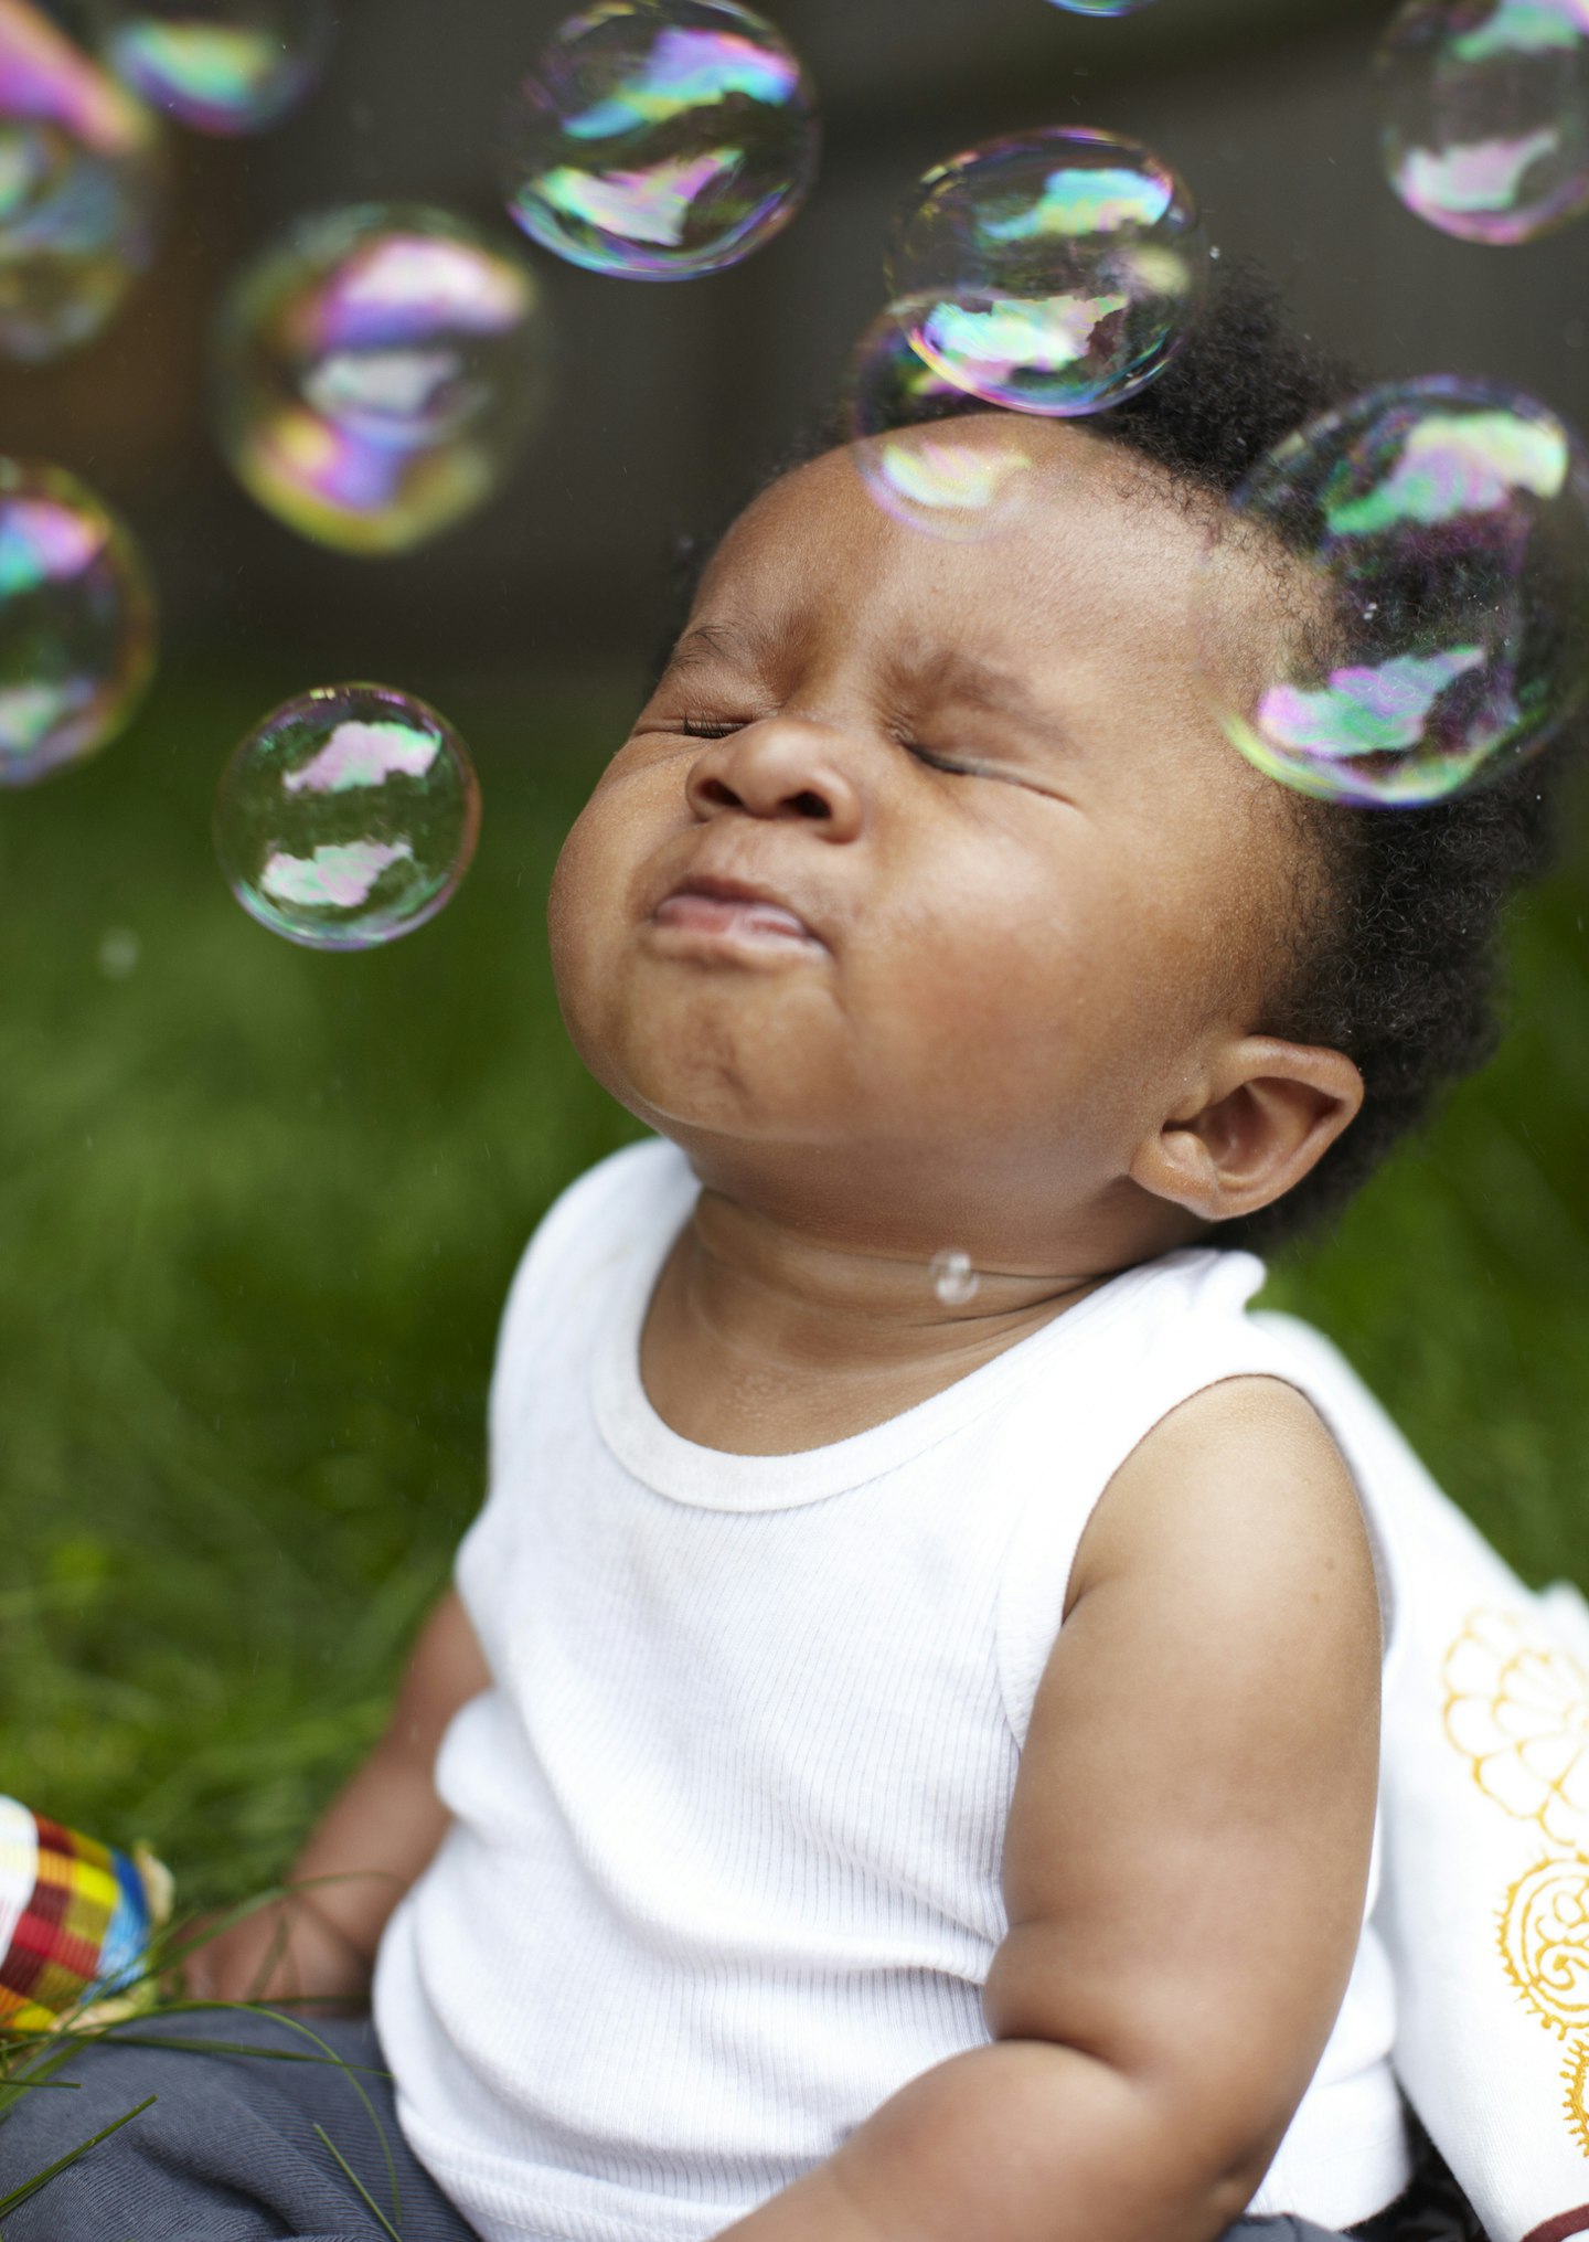
{"label": "baby's arm on the left, hand resting in the grass", "polygon": [[[475,1630],[457,1590],[448,1590],[415,1643],[381,1742],[325,1809],[285,1879],[347,1881],[260,1908],[199,1946],[186,1964],[195,2000],[368,1995],[381,1933],[446,1829],[433,1780],[442,1733],[489,1686]],[[282,1951],[262,1980],[278,1939]]]}

